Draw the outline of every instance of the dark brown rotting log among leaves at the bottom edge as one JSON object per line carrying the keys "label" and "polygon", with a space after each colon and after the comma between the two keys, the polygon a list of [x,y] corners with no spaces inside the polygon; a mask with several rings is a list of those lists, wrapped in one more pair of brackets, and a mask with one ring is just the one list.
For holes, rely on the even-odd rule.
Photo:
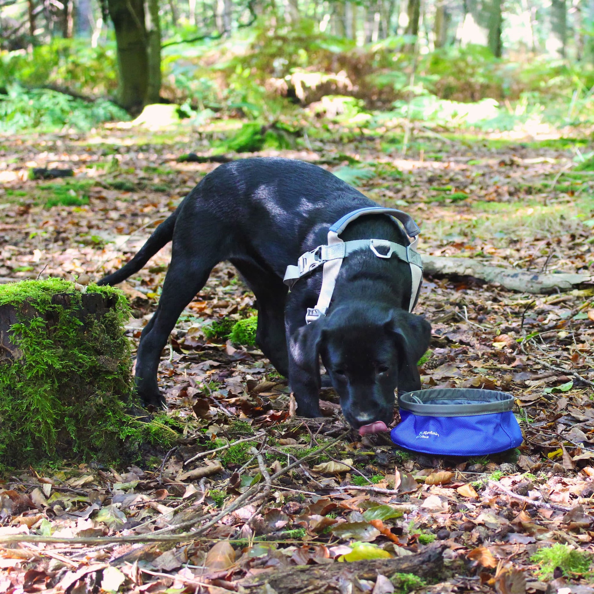
{"label": "dark brown rotting log among leaves at the bottom edge", "polygon": [[[375,580],[378,575],[388,578],[396,573],[413,573],[423,579],[440,577],[443,571],[444,544],[428,546],[417,555],[396,557],[393,559],[375,559],[371,561],[354,561],[353,563],[324,563],[305,567],[285,568],[271,574],[262,574],[252,578],[255,584],[266,582],[278,594],[300,594],[316,592],[330,594],[344,592],[344,585],[355,580]],[[265,586],[254,588],[256,592],[264,592]],[[251,588],[250,588],[251,589]],[[254,592],[251,589],[251,592]],[[266,589],[270,592],[269,589]]]}

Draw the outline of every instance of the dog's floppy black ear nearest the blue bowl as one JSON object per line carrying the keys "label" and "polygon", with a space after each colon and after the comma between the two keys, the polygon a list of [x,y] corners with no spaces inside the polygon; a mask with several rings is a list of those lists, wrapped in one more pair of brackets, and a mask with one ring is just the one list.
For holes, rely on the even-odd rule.
{"label": "dog's floppy black ear nearest the blue bowl", "polygon": [[398,393],[421,390],[421,376],[417,362],[425,354],[431,341],[431,324],[420,315],[394,310],[386,323],[399,347]]}

